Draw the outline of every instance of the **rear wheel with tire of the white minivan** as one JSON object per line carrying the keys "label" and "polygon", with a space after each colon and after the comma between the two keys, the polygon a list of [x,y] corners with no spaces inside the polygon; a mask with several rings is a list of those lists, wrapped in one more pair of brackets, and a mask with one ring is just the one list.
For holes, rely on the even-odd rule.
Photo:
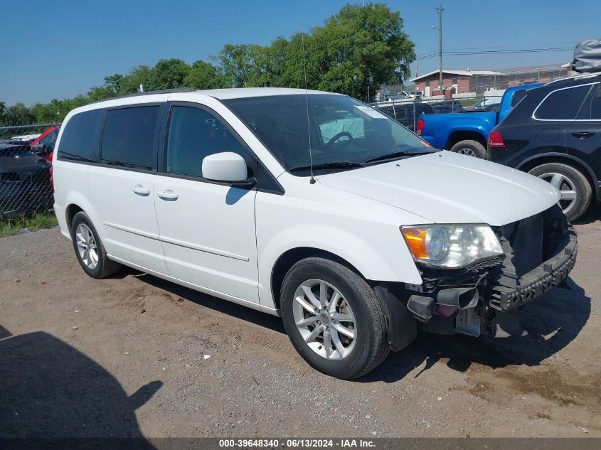
{"label": "rear wheel with tire of the white minivan", "polygon": [[121,264],[107,257],[92,220],[83,211],[75,214],[71,222],[71,240],[83,271],[92,278],[100,279],[115,274]]}

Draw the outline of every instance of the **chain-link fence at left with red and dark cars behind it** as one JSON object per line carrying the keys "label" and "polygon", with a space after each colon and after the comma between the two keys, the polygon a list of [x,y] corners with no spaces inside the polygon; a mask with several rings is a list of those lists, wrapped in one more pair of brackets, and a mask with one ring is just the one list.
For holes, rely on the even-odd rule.
{"label": "chain-link fence at left with red and dark cars behind it", "polygon": [[51,161],[60,124],[0,126],[0,220],[53,206]]}

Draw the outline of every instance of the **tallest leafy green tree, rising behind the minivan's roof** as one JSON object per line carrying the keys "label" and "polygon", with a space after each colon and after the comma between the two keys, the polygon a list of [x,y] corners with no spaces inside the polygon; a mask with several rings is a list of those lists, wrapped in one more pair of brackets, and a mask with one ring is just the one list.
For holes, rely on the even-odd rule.
{"label": "tallest leafy green tree, rising behind the minivan's roof", "polygon": [[324,26],[292,36],[283,81],[304,87],[306,65],[307,87],[365,99],[368,89],[376,92],[383,83],[405,80],[414,59],[414,44],[398,12],[383,4],[346,5]]}

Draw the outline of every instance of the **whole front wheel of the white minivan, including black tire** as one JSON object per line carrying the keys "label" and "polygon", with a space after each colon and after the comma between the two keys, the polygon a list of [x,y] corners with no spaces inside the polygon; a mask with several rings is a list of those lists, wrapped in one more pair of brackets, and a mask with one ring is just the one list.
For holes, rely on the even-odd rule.
{"label": "whole front wheel of the white minivan, including black tire", "polygon": [[311,257],[294,264],[284,277],[280,306],[292,345],[326,375],[361,377],[390,352],[378,296],[339,262]]}

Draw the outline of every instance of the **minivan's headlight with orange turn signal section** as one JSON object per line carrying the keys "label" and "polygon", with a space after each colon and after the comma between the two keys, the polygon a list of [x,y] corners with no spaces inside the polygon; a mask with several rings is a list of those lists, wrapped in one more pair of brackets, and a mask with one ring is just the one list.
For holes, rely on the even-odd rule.
{"label": "minivan's headlight with orange turn signal section", "polygon": [[477,259],[503,255],[487,225],[416,225],[401,227],[416,261],[437,267],[464,267]]}

